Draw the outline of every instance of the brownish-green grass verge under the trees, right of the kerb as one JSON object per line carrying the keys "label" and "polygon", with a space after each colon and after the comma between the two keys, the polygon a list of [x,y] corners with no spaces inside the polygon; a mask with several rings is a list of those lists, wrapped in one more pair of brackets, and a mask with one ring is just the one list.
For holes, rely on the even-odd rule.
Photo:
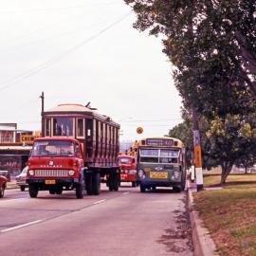
{"label": "brownish-green grass verge under the trees, right of the kerb", "polygon": [[[216,178],[204,181],[216,185]],[[256,255],[256,175],[230,175],[223,190],[194,192],[193,197],[220,255]]]}

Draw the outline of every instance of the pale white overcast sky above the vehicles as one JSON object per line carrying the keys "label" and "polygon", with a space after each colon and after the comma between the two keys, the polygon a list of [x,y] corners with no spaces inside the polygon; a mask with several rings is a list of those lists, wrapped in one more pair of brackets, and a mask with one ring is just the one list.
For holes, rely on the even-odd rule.
{"label": "pale white overcast sky above the vehicles", "polygon": [[46,109],[90,101],[119,122],[121,140],[164,136],[182,121],[161,40],[133,28],[122,0],[0,3],[0,122],[40,130],[42,91]]}

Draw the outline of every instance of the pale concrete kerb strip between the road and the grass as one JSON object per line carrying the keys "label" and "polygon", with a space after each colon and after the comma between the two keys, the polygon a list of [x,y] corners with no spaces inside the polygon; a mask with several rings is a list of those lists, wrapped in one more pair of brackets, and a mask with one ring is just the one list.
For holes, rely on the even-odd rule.
{"label": "pale concrete kerb strip between the road and the grass", "polygon": [[192,225],[192,243],[194,247],[194,256],[217,256],[216,246],[208,229],[203,228],[203,222],[198,216],[198,212],[193,210],[192,192],[196,192],[196,184],[187,181],[187,189],[189,196],[189,210]]}

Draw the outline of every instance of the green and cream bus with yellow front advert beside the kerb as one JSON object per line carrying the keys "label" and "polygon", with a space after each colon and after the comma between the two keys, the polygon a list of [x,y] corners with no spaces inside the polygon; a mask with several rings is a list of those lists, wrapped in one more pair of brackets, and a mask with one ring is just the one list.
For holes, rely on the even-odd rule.
{"label": "green and cream bus with yellow front advert beside the kerb", "polygon": [[132,148],[137,155],[137,182],[140,192],[156,187],[172,187],[174,192],[185,189],[185,147],[174,137],[146,137]]}

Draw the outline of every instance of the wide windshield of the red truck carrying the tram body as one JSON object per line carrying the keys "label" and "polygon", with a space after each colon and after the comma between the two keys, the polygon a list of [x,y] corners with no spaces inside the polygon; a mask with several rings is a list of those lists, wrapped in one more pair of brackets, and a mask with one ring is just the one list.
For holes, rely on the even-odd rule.
{"label": "wide windshield of the red truck carrying the tram body", "polygon": [[48,140],[34,142],[31,156],[75,156],[74,143],[71,141]]}

